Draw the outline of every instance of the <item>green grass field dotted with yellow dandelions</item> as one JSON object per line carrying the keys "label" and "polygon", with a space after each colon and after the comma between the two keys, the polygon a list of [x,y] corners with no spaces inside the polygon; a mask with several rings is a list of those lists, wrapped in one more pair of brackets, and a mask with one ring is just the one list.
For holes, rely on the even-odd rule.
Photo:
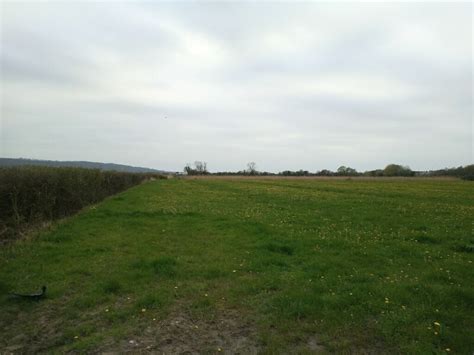
{"label": "green grass field dotted with yellow dandelions", "polygon": [[146,183],[0,250],[0,352],[471,354],[473,216],[465,181]]}

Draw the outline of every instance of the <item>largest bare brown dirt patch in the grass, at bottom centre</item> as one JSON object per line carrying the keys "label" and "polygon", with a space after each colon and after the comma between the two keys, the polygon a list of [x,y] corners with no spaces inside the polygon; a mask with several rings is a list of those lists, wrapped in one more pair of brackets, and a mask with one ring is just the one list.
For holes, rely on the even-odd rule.
{"label": "largest bare brown dirt patch in the grass, at bottom centre", "polygon": [[194,319],[186,313],[156,321],[141,334],[104,347],[107,353],[159,352],[164,354],[257,354],[261,345],[255,329],[236,311],[222,311],[212,320]]}

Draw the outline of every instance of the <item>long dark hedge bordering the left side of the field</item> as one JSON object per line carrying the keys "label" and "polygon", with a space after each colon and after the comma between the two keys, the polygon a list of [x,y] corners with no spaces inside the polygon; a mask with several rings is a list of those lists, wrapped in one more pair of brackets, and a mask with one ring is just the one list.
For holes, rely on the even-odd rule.
{"label": "long dark hedge bordering the left side of the field", "polygon": [[165,177],[82,168],[0,168],[0,243],[150,178]]}

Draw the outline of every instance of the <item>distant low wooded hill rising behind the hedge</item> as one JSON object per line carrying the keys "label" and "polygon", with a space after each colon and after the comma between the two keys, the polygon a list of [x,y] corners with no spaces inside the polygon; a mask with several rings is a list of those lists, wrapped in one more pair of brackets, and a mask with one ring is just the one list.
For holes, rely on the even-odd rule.
{"label": "distant low wooded hill rising behind the hedge", "polygon": [[0,158],[1,167],[11,166],[23,166],[23,165],[34,165],[34,166],[53,166],[53,167],[71,167],[71,168],[86,168],[86,169],[99,169],[99,170],[113,170],[123,171],[130,173],[159,173],[169,174],[169,171],[156,170],[149,168],[142,168],[130,165],[113,164],[113,163],[97,163],[91,161],[57,161],[57,160],[36,160],[36,159],[12,159],[12,158]]}

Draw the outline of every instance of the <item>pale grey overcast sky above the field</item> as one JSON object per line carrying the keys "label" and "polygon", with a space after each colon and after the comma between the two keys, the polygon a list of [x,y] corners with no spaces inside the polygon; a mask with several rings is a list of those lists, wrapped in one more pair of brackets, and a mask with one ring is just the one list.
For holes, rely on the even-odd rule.
{"label": "pale grey overcast sky above the field", "polygon": [[472,163],[464,3],[1,2],[0,156]]}

